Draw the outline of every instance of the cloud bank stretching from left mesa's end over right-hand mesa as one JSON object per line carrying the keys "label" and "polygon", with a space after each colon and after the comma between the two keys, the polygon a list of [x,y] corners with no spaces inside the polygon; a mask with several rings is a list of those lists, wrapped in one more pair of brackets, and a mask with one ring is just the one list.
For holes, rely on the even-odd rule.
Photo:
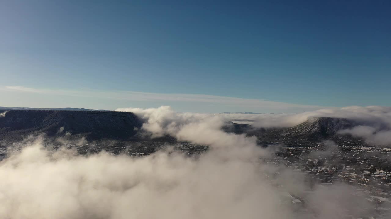
{"label": "cloud bank stretching from left mesa's end over right-hand mesa", "polygon": [[[359,124],[352,129],[340,130],[339,134],[350,134],[364,138],[369,143],[391,144],[391,108],[382,106],[350,106],[339,109],[319,109],[303,113],[282,114],[203,114],[176,113],[169,106],[160,108],[119,108],[117,111],[131,111],[144,120],[142,129],[152,136],[165,134],[179,140],[189,140],[200,144],[214,144],[215,138],[226,139],[223,145],[237,145],[241,140],[252,144],[255,140],[239,138],[220,131],[221,126],[231,120],[251,120],[255,128],[292,127],[313,117],[347,118]],[[206,140],[198,136],[210,136]],[[251,141],[251,142],[250,142]],[[240,144],[240,143],[239,143]]]}

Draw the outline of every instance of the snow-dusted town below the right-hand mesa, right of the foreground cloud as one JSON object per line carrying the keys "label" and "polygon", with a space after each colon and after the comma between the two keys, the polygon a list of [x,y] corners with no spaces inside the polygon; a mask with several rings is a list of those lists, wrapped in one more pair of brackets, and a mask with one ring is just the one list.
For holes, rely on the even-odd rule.
{"label": "snow-dusted town below the right-hand mesa, right of the foreground cloud", "polygon": [[[273,147],[273,146],[272,146]],[[391,149],[380,147],[282,147],[274,146],[275,156],[262,158],[261,163],[275,167],[276,171],[264,173],[270,182],[279,187],[293,205],[300,205],[300,211],[312,213],[318,218],[314,209],[308,209],[311,193],[319,189],[332,189],[334,186],[346,186],[345,198],[354,206],[355,201],[364,200],[368,205],[361,211],[346,207],[344,218],[389,218],[391,202]],[[298,172],[299,182],[294,182],[284,172]],[[294,176],[295,176],[294,175]],[[290,191],[287,181],[290,180],[301,189]],[[350,190],[349,190],[350,189]],[[335,201],[338,198],[335,197]],[[306,204],[307,203],[307,204]],[[308,215],[308,214],[306,214]],[[311,215],[311,214],[309,214]]]}

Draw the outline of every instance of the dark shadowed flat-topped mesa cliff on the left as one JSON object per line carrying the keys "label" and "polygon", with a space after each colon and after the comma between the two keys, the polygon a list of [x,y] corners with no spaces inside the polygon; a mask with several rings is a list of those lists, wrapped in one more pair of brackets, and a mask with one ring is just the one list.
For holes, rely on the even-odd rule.
{"label": "dark shadowed flat-topped mesa cliff on the left", "polygon": [[30,134],[129,140],[142,122],[130,112],[10,110],[0,117],[0,140],[22,140]]}

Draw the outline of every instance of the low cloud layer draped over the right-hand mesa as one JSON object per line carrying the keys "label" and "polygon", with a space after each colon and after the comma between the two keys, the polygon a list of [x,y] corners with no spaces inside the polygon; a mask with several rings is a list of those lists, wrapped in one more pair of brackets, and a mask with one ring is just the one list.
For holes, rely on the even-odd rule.
{"label": "low cloud layer draped over the right-hand mesa", "polygon": [[357,122],[352,129],[340,130],[339,134],[350,134],[364,138],[369,143],[391,144],[391,108],[382,106],[350,106],[340,109],[319,109],[291,114],[229,114],[232,119],[250,119],[253,127],[292,127],[313,117],[347,118]]}

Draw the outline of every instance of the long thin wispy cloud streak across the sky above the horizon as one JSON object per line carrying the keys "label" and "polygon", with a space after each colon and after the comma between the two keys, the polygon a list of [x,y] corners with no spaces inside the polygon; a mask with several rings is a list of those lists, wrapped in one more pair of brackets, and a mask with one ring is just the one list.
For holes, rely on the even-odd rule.
{"label": "long thin wispy cloud streak across the sky above the horizon", "polygon": [[148,93],[148,92],[134,92],[134,91],[102,91],[102,90],[61,90],[61,89],[40,89],[29,88],[22,86],[6,86],[1,90],[7,90],[11,92],[28,92],[45,95],[68,95],[75,97],[94,97],[94,98],[107,98],[107,99],[120,99],[127,101],[170,101],[170,102],[199,102],[199,103],[211,103],[211,104],[224,104],[228,106],[246,106],[249,108],[267,108],[267,109],[284,109],[284,108],[296,108],[314,110],[325,108],[322,106],[314,105],[302,105],[292,104],[285,102],[275,102],[262,99],[247,99],[237,97],[223,97],[216,95],[204,95],[204,94],[160,94],[160,93]]}

